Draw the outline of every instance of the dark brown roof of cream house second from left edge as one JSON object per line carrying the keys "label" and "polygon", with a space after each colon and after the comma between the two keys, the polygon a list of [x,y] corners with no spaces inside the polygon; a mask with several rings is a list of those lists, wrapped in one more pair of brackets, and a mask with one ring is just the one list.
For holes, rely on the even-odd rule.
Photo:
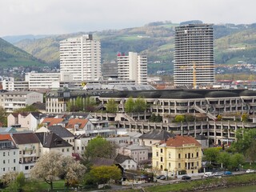
{"label": "dark brown roof of cream house second from left edge", "polygon": [[14,142],[18,145],[39,143],[38,137],[34,133],[13,134],[12,138],[14,139]]}

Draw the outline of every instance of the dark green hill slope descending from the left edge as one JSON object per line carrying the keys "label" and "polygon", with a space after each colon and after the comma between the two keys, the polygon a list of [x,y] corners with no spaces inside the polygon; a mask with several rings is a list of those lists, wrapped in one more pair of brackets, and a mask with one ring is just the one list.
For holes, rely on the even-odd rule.
{"label": "dark green hill slope descending from the left edge", "polygon": [[46,63],[0,38],[0,66],[43,66]]}

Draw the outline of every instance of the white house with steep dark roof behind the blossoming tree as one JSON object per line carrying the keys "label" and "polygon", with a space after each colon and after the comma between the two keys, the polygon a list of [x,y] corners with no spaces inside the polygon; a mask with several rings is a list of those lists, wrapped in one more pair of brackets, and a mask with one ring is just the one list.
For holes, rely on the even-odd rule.
{"label": "white house with steep dark roof behind the blossoming tree", "polygon": [[40,141],[40,156],[50,151],[60,152],[64,156],[72,156],[73,146],[54,132],[35,134]]}

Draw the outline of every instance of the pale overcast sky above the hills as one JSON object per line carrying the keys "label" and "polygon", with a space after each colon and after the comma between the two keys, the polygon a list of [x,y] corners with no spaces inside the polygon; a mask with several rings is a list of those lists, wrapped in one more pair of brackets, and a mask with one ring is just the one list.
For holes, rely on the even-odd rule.
{"label": "pale overcast sky above the hills", "polygon": [[0,37],[118,30],[149,22],[256,22],[255,0],[0,0]]}

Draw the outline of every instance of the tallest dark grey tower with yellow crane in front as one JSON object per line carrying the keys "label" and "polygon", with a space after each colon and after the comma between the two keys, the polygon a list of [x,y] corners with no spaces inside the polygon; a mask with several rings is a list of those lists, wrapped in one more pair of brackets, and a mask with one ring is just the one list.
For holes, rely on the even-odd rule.
{"label": "tallest dark grey tower with yellow crane in front", "polygon": [[212,85],[214,76],[214,30],[211,24],[175,27],[174,85]]}

